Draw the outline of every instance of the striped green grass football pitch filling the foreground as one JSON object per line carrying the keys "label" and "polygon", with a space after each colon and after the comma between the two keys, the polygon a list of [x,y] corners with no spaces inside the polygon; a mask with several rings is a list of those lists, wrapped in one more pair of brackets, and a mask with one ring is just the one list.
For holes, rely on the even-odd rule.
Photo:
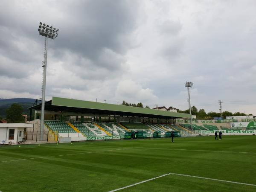
{"label": "striped green grass football pitch filling the foreground", "polygon": [[[111,140],[0,147],[0,191],[106,192],[167,173],[256,185],[256,136]],[[167,175],[120,191],[256,191]]]}

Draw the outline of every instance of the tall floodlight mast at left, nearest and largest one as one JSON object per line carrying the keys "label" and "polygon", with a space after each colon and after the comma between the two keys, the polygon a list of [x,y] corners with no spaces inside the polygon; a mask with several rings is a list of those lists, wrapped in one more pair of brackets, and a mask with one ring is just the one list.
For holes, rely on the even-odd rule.
{"label": "tall floodlight mast at left, nearest and largest one", "polygon": [[42,107],[41,107],[41,121],[40,121],[40,140],[44,140],[44,101],[45,101],[45,85],[46,85],[46,66],[47,66],[47,46],[48,38],[54,39],[58,37],[58,29],[52,26],[39,23],[38,33],[45,37],[44,40],[44,61],[42,62],[43,67],[43,81],[42,81]]}

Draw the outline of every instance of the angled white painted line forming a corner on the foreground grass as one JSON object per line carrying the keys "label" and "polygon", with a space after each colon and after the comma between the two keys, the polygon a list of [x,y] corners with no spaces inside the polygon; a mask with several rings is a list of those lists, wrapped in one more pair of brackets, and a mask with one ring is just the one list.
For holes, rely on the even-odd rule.
{"label": "angled white painted line forming a corner on the foreground grass", "polygon": [[179,176],[184,176],[184,177],[195,177],[195,178],[199,178],[199,179],[207,179],[207,180],[215,180],[215,181],[221,181],[221,182],[225,182],[225,183],[234,183],[234,184],[239,184],[239,185],[249,185],[249,186],[256,186],[255,184],[249,184],[249,183],[240,183],[240,182],[236,182],[236,181],[229,181],[229,180],[221,180],[221,179],[213,179],[213,178],[208,178],[208,177],[198,177],[198,176],[194,176],[194,175],[184,175],[184,174],[178,174],[178,173],[167,173],[167,174],[164,174],[164,175],[160,175],[158,177],[154,177],[154,178],[151,178],[151,179],[148,179],[148,180],[143,180],[139,183],[134,183],[132,185],[128,185],[128,186],[124,186],[122,188],[119,188],[119,189],[114,189],[112,191],[109,191],[109,192],[115,192],[115,191],[119,191],[119,190],[122,190],[122,189],[126,189],[128,187],[131,187],[131,186],[135,186],[135,185],[139,185],[141,183],[145,183],[145,182],[148,182],[148,181],[151,181],[151,180],[155,180],[155,179],[158,179],[160,177],[165,177],[167,175],[179,175]]}

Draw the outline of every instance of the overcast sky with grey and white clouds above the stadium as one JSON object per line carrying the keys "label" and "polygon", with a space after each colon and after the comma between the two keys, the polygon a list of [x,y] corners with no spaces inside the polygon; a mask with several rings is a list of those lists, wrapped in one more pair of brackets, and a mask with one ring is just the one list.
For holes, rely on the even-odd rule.
{"label": "overcast sky with grey and white clouds above the stadium", "polygon": [[255,0],[1,0],[0,98],[192,105],[256,114]]}

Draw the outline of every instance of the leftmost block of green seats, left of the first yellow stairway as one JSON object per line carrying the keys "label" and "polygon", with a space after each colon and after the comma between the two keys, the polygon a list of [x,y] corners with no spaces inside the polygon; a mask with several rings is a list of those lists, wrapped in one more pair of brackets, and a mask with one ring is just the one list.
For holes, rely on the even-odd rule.
{"label": "leftmost block of green seats, left of the first yellow stairway", "polygon": [[52,121],[44,120],[44,123],[54,132],[59,133],[76,133],[76,131],[71,128],[65,121]]}

